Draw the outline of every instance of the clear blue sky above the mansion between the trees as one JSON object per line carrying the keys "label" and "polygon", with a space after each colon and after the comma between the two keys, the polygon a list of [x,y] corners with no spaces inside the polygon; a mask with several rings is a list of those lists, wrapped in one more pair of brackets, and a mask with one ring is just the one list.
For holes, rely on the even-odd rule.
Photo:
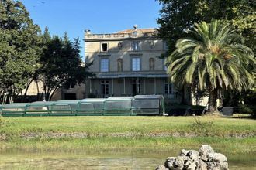
{"label": "clear blue sky above the mansion between the trees", "polygon": [[33,22],[51,35],[81,40],[84,58],[84,30],[112,33],[124,29],[157,28],[161,5],[155,0],[20,0]]}

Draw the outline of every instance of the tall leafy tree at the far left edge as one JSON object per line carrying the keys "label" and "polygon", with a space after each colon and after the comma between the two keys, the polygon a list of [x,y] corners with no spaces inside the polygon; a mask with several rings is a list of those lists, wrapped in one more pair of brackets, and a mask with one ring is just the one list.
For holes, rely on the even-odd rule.
{"label": "tall leafy tree at the far left edge", "polygon": [[40,28],[19,1],[0,0],[0,101],[26,87],[40,56]]}

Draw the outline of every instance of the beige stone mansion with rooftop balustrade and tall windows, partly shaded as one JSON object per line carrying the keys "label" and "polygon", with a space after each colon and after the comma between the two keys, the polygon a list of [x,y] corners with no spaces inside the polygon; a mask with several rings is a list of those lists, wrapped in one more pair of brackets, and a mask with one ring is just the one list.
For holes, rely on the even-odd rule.
{"label": "beige stone mansion with rooftop balustrade and tall windows, partly shaded", "polygon": [[[112,34],[85,31],[85,63],[93,62],[85,97],[162,94],[168,100],[181,100],[168,83],[164,59],[167,47],[155,36],[156,29],[127,29]],[[188,95],[188,99],[189,99]]]}

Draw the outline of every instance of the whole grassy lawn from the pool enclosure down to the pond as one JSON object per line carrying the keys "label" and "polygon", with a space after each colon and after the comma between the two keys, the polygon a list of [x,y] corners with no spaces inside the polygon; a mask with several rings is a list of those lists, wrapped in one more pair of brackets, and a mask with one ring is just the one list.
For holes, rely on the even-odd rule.
{"label": "whole grassy lawn from the pool enclosure down to the pond", "polygon": [[0,149],[256,153],[256,121],[227,117],[2,117]]}

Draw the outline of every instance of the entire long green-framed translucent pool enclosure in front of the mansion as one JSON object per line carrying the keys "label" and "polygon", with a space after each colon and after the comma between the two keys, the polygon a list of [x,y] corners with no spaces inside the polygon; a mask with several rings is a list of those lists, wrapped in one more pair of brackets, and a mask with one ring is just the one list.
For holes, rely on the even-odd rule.
{"label": "entire long green-framed translucent pool enclosure in front of the mansion", "polygon": [[161,95],[0,105],[3,116],[164,115],[164,111],[164,97]]}

